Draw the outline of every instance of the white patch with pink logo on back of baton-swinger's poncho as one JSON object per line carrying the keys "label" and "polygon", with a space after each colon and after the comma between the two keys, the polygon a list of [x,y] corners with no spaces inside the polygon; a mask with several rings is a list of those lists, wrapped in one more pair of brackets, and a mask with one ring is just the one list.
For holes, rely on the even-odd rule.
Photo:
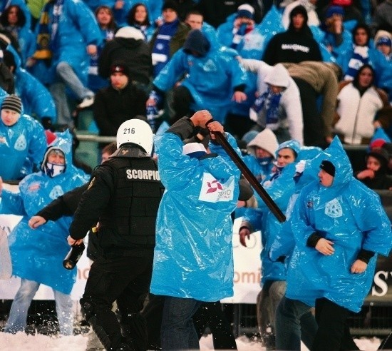
{"label": "white patch with pink logo on back of baton-swinger's poncho", "polygon": [[234,194],[234,177],[230,177],[227,182],[222,183],[215,179],[210,173],[203,174],[202,189],[199,200],[209,203],[220,201],[231,201]]}

